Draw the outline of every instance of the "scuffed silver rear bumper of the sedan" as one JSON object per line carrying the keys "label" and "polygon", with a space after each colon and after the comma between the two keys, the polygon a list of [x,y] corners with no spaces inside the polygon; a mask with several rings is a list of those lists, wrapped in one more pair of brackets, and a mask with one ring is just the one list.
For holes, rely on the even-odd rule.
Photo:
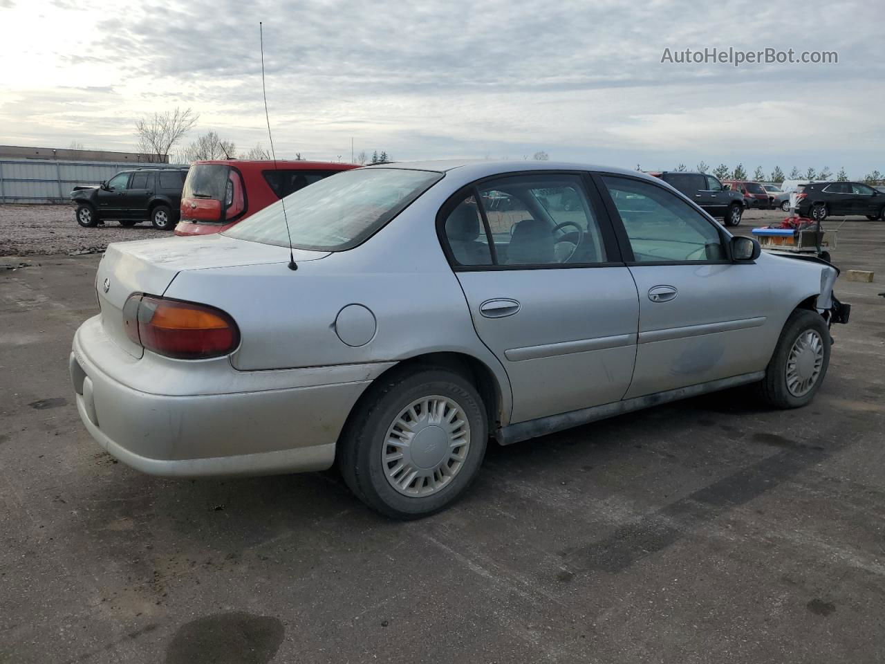
{"label": "scuffed silver rear bumper of the sedan", "polygon": [[[237,390],[232,377],[229,385],[235,391],[170,395],[134,389],[109,374],[106,368],[119,374],[121,365],[150,373],[138,367],[150,362],[147,353],[139,360],[122,354],[104,335],[97,316],[77,330],[70,373],[81,420],[104,450],[128,466],[180,477],[330,467],[350,409],[371,378],[392,366],[381,363],[356,373],[353,365],[325,367],[328,382],[323,384],[316,384],[316,368],[237,372],[231,367],[232,374],[250,374],[249,390]],[[192,371],[202,371],[198,364]],[[356,375],[360,380],[332,382]],[[280,387],[281,377],[286,387]]]}

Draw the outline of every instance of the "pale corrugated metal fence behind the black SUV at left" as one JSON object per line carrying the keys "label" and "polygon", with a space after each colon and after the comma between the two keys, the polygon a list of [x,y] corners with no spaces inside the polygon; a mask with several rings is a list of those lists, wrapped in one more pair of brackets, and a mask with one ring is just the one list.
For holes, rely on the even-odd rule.
{"label": "pale corrugated metal fence behind the black SUV at left", "polygon": [[110,180],[127,168],[164,164],[0,159],[0,203],[67,203],[76,185]]}

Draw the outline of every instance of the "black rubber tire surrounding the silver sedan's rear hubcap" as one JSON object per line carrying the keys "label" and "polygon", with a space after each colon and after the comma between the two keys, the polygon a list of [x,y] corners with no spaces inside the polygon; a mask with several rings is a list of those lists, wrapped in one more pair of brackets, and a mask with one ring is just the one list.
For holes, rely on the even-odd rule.
{"label": "black rubber tire surrounding the silver sedan's rear hubcap", "polygon": [[[394,489],[385,475],[381,455],[390,451],[388,431],[404,409],[432,396],[450,399],[464,413],[470,427],[469,446],[465,460],[447,483],[427,496],[407,496]],[[479,471],[488,437],[486,410],[473,383],[447,368],[415,367],[381,378],[360,399],[338,443],[338,467],[350,490],[376,512],[392,519],[419,519],[443,510],[464,494]],[[412,483],[407,486],[412,488]],[[412,490],[418,489],[416,485]]]}

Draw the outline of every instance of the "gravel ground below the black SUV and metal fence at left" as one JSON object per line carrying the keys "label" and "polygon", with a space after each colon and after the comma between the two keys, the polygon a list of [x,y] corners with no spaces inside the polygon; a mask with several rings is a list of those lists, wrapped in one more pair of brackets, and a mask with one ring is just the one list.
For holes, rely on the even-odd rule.
{"label": "gravel ground below the black SUV and metal fence at left", "polygon": [[104,251],[112,242],[169,235],[148,221],[132,228],[116,221],[82,228],[70,205],[0,205],[0,256]]}

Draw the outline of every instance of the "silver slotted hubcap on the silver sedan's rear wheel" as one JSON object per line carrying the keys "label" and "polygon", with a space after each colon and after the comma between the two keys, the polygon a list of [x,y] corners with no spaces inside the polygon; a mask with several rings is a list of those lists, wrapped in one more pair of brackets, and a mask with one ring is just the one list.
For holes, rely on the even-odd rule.
{"label": "silver slotted hubcap on the silver sedan's rear wheel", "polygon": [[405,496],[427,496],[450,483],[470,449],[470,423],[450,398],[415,399],[390,425],[381,467]]}

